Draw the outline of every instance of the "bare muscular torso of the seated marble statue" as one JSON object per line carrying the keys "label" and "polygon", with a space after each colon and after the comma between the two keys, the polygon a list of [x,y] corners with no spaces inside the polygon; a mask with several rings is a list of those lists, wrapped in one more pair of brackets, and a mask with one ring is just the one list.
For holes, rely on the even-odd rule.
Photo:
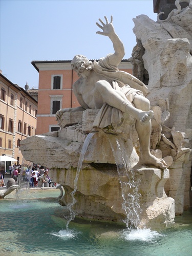
{"label": "bare muscular torso of the seated marble statue", "polygon": [[[95,84],[99,80],[108,81],[110,83],[109,86],[111,85],[110,79],[95,73],[93,70],[89,72],[89,76],[81,77],[74,83],[74,93],[83,108],[100,109],[103,103],[105,103],[102,92],[95,88]],[[88,107],[83,105],[83,103],[86,103]]]}

